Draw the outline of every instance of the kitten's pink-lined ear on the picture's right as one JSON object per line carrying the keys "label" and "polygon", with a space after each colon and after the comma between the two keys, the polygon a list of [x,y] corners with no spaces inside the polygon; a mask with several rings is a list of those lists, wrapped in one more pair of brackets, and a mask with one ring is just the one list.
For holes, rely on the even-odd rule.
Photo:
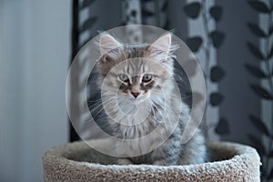
{"label": "kitten's pink-lined ear on the picture's right", "polygon": [[172,47],[172,35],[162,35],[148,47],[152,56],[168,55]]}

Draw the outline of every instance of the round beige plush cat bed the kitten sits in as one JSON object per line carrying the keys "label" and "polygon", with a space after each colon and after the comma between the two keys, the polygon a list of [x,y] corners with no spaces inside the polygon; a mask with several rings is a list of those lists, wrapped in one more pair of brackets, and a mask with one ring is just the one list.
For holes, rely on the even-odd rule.
{"label": "round beige plush cat bed the kitten sits in", "polygon": [[[93,143],[94,144],[94,143]],[[113,145],[97,139],[97,145]],[[58,181],[259,181],[257,151],[235,143],[207,143],[211,162],[159,167],[114,165],[116,158],[92,149],[85,142],[54,147],[43,157],[45,182]]]}

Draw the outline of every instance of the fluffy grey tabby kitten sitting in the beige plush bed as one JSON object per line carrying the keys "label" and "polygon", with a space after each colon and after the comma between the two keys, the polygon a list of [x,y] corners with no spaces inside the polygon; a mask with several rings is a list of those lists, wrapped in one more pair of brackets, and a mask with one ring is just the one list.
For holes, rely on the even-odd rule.
{"label": "fluffy grey tabby kitten sitting in the beige plush bed", "polygon": [[[136,139],[159,128],[130,149],[116,146],[117,153],[128,156],[117,163],[170,166],[205,162],[205,140],[199,130],[186,144],[181,143],[189,107],[179,99],[173,79],[173,52],[177,46],[172,45],[171,35],[162,35],[152,45],[145,45],[122,44],[103,33],[97,44],[101,52],[96,65],[97,84],[101,86],[112,135]],[[130,153],[147,150],[164,137],[167,140],[147,154],[130,157]]]}

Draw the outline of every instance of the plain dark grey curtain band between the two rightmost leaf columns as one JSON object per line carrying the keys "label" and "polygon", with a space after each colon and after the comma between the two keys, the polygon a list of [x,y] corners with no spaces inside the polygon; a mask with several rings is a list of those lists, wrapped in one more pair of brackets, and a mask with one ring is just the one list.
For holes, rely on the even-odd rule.
{"label": "plain dark grey curtain band between the two rightmost leaf columns", "polygon": [[260,100],[249,88],[250,82],[258,83],[258,79],[250,76],[244,65],[258,66],[247,46],[247,41],[258,42],[247,26],[248,22],[258,24],[258,14],[247,1],[217,1],[217,4],[224,10],[217,28],[226,34],[225,43],[217,51],[218,64],[226,71],[225,79],[219,83],[219,90],[225,96],[220,115],[227,118],[230,126],[230,134],[221,137],[250,145],[248,134],[257,130],[250,124],[248,116],[260,116]]}

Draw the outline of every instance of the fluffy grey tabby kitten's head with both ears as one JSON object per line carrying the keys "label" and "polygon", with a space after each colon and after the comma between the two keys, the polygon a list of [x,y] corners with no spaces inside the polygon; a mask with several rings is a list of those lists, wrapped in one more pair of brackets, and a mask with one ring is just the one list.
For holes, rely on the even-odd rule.
{"label": "fluffy grey tabby kitten's head with both ears", "polygon": [[107,92],[141,101],[171,89],[173,55],[171,34],[162,35],[151,45],[123,44],[112,35],[102,34],[98,41],[101,58],[97,71]]}

